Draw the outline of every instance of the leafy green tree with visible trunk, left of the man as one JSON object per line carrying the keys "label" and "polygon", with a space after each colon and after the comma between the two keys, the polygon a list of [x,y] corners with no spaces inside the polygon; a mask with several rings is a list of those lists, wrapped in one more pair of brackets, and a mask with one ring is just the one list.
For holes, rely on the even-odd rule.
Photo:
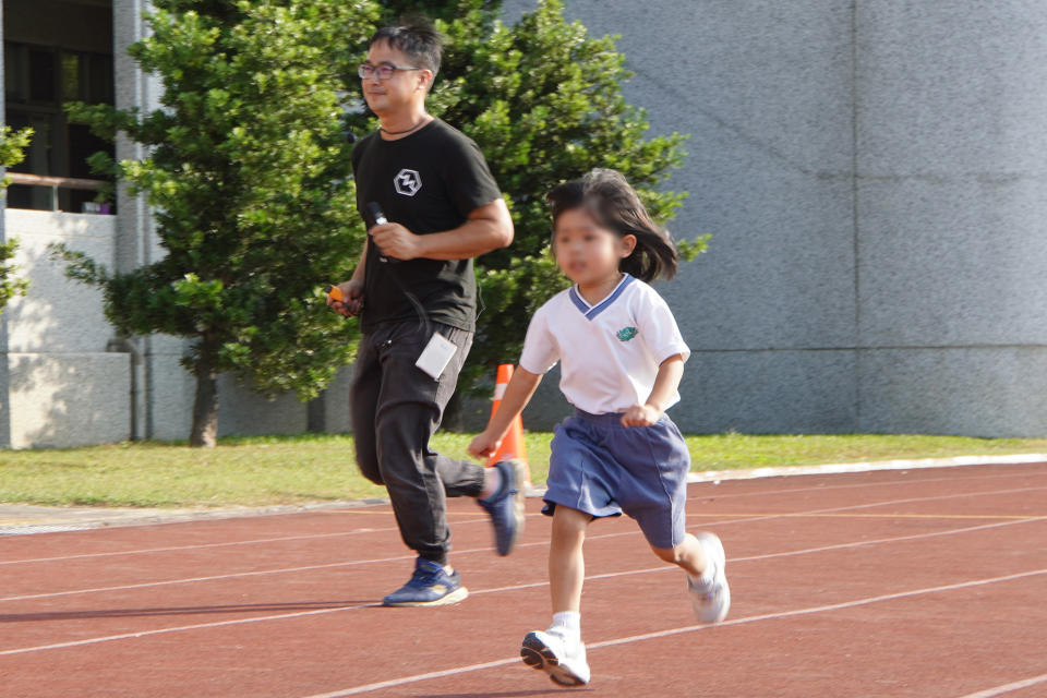
{"label": "leafy green tree with visible trunk, left of the man", "polygon": [[356,324],[327,311],[322,287],[351,268],[365,237],[341,101],[377,9],[370,0],[153,7],[153,33],[130,53],[163,81],[163,108],[68,110],[103,137],[122,131],[148,146],[142,160],[99,153],[92,166],[145,194],[166,255],[111,273],[57,252],[71,277],[100,287],[119,332],[191,340],[190,443],[213,446],[219,373],[308,399],[354,354]]}

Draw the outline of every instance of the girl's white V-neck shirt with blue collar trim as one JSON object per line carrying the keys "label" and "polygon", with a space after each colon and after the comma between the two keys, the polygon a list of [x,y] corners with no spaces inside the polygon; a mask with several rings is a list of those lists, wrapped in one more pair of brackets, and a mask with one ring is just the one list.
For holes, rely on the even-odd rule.
{"label": "girl's white V-neck shirt with blue collar trim", "polygon": [[[603,414],[646,402],[659,365],[677,353],[686,361],[690,349],[669,305],[626,274],[595,305],[571,287],[539,308],[527,328],[520,366],[543,374],[559,361],[559,389],[567,400]],[[678,401],[677,393],[666,409]]]}

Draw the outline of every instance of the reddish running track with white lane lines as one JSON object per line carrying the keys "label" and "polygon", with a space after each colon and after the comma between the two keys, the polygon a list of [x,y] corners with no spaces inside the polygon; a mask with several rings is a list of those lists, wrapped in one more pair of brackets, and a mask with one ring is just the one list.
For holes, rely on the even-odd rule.
{"label": "reddish running track with white lane lines", "polygon": [[[1047,464],[695,484],[734,605],[695,625],[627,518],[586,543],[592,696],[1047,696]],[[510,698],[549,621],[549,519],[497,557],[452,503],[457,606],[375,604],[412,555],[387,506],[0,539],[0,696]]]}

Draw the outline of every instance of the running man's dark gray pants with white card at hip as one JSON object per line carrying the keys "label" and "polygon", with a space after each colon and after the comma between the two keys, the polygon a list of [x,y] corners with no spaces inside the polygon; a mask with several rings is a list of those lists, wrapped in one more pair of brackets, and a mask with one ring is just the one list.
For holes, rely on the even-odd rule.
{"label": "running man's dark gray pants with white card at hip", "polygon": [[471,332],[440,323],[431,329],[458,347],[440,381],[414,365],[430,339],[425,326],[386,323],[360,339],[349,401],[361,472],[388,490],[407,546],[446,565],[445,497],[479,496],[483,467],[429,447],[472,346]]}

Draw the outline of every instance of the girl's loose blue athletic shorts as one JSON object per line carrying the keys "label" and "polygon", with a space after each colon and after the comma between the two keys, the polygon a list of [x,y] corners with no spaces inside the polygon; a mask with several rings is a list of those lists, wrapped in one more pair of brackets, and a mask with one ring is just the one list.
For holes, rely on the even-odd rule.
{"label": "girl's loose blue athletic shorts", "polygon": [[666,416],[623,426],[622,414],[576,410],[554,430],[542,514],[557,504],[593,517],[628,514],[654,547],[684,540],[690,454]]}

